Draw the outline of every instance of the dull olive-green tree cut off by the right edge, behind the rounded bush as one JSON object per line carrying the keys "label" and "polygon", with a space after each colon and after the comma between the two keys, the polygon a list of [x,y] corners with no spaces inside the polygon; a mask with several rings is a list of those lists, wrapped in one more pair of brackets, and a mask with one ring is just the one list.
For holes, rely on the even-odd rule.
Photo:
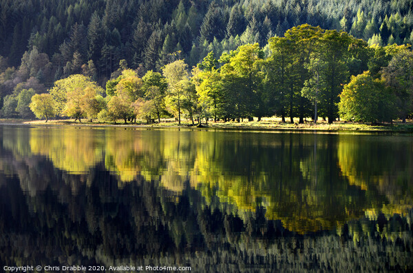
{"label": "dull olive-green tree cut off by the right edge, behind the rounded bush", "polygon": [[399,117],[405,123],[413,112],[413,52],[401,50],[395,54],[381,75],[396,94]]}

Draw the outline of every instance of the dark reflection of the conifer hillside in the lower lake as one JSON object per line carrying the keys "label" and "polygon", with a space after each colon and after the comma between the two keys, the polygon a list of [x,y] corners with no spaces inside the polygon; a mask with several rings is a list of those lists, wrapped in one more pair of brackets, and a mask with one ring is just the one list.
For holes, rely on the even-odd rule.
{"label": "dark reflection of the conifer hillside in the lower lake", "polygon": [[179,199],[160,194],[165,190],[149,181],[120,187],[100,167],[92,168],[89,183],[76,194],[45,190],[27,196],[9,179],[0,190],[0,263],[156,263],[189,265],[195,272],[413,267],[412,211],[362,217],[339,230],[302,236],[266,219],[264,210],[240,214],[200,205],[200,192],[189,187]]}

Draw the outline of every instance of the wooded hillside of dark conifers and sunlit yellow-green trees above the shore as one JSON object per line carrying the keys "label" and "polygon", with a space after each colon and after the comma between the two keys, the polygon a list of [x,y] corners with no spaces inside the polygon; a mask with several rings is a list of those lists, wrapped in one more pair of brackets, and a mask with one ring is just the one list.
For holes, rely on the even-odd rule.
{"label": "wooded hillside of dark conifers and sunlit yellow-green trees above the shore", "polygon": [[377,123],[412,114],[412,1],[0,7],[3,117]]}

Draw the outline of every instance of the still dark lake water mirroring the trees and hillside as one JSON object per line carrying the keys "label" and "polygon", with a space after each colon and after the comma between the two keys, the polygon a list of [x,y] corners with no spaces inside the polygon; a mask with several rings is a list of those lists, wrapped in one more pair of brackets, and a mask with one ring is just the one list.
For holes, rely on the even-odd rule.
{"label": "still dark lake water mirroring the trees and hillside", "polygon": [[412,208],[412,135],[0,126],[2,266],[403,272]]}

